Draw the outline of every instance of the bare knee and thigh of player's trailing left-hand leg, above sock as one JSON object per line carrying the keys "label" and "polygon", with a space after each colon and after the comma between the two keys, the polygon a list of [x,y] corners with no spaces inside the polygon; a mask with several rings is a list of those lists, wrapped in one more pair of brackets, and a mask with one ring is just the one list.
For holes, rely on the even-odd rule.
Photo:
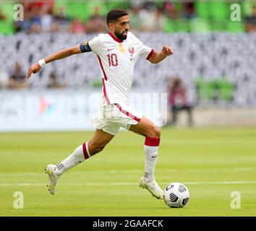
{"label": "bare knee and thigh of player's trailing left-hand leg, above sock", "polygon": [[96,129],[93,138],[89,141],[89,152],[101,151],[106,144],[108,144],[114,135],[108,134],[107,132]]}

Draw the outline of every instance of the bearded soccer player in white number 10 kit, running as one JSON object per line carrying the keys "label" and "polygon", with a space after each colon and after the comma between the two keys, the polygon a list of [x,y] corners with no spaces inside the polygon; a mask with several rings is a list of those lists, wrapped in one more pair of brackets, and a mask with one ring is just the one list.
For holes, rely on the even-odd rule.
{"label": "bearded soccer player in white number 10 kit, running", "polygon": [[31,74],[40,71],[45,64],[90,51],[98,57],[101,66],[103,94],[101,115],[93,118],[95,134],[90,141],[85,141],[74,149],[74,152],[59,164],[46,166],[49,178],[48,191],[54,194],[61,174],[101,152],[122,127],[145,136],[145,174],[140,178],[139,185],[148,189],[156,198],[163,199],[163,191],[154,177],[161,131],[142,113],[129,107],[129,96],[133,71],[139,56],[146,58],[152,64],[158,64],[174,51],[168,46],[163,46],[162,51],[157,52],[144,45],[132,32],[129,32],[129,16],[124,9],[112,9],[107,14],[106,22],[110,30],[108,34],[100,34],[85,43],[40,59],[27,72],[27,78],[30,78]]}

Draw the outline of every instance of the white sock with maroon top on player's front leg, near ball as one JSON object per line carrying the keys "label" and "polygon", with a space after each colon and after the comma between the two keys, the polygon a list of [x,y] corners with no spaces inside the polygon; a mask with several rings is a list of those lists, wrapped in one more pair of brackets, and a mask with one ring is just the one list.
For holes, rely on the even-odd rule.
{"label": "white sock with maroon top on player's front leg, near ball", "polygon": [[158,158],[158,147],[160,138],[146,137],[145,139],[145,182],[153,182],[155,180],[155,165]]}

